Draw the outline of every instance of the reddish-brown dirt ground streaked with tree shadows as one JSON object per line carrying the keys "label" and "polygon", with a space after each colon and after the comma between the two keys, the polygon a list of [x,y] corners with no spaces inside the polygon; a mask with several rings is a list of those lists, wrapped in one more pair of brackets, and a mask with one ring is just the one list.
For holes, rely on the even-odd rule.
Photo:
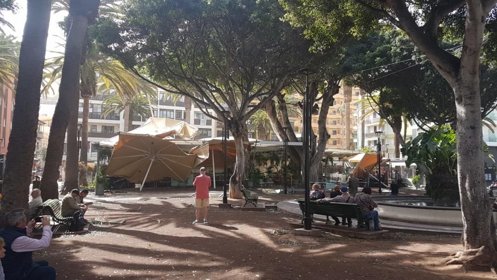
{"label": "reddish-brown dirt ground streaked with tree shadows", "polygon": [[[461,249],[459,236],[387,234],[379,240],[297,237],[298,219],[274,211],[219,209],[211,197],[209,224],[192,225],[193,188],[106,194],[87,218],[97,224],[83,235],[54,238],[36,252],[57,270],[57,279],[497,279],[443,265]],[[266,204],[300,197],[259,194]],[[88,197],[93,198],[93,197]],[[98,198],[96,198],[98,199]],[[240,200],[230,200],[240,205]],[[242,204],[243,205],[243,204]]]}

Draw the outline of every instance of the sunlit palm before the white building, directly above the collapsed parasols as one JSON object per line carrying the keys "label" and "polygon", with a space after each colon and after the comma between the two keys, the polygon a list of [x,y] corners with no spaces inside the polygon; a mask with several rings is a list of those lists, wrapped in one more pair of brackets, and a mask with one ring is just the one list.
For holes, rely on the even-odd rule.
{"label": "sunlit palm before the white building, directly above the collapsed parasols", "polygon": [[[145,88],[148,88],[147,85],[145,86]],[[122,111],[125,111],[125,114],[128,115],[128,122],[126,123],[125,121],[124,123],[124,132],[128,132],[132,130],[133,127],[133,116],[139,115],[142,118],[147,119],[152,115],[150,107],[152,100],[150,100],[151,97],[149,96],[142,92],[135,94],[132,97],[121,95],[109,96],[102,102],[106,107],[105,111],[102,113],[102,117],[106,117],[111,113],[120,114]],[[126,112],[128,108],[129,111]]]}

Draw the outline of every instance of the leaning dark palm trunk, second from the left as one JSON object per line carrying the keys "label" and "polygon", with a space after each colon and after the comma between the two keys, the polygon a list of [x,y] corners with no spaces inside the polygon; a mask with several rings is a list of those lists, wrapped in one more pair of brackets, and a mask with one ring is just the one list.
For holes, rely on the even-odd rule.
{"label": "leaning dark palm trunk, second from the left", "polygon": [[59,197],[58,170],[64,152],[64,138],[72,109],[71,103],[74,95],[79,96],[80,94],[78,91],[80,61],[87,27],[88,18],[86,16],[73,16],[64,54],[59,100],[50,128],[45,169],[40,186],[45,200]]}

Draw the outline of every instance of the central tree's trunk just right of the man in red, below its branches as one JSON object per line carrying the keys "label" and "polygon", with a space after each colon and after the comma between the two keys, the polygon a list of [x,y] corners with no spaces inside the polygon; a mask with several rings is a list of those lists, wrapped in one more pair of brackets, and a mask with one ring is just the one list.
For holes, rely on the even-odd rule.
{"label": "central tree's trunk just right of the man in red, below its branches", "polygon": [[229,128],[235,140],[237,149],[237,160],[235,170],[230,178],[230,198],[243,199],[241,186],[245,182],[247,175],[248,151],[246,149],[248,143],[247,125],[245,123],[232,122],[229,123]]}

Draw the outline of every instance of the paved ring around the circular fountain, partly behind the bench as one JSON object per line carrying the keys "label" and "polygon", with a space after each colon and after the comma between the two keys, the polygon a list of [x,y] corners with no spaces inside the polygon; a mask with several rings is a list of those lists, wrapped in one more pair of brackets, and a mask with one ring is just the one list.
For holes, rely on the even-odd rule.
{"label": "paved ring around the circular fountain, partly behind the bench", "polygon": [[[299,203],[293,199],[284,200],[276,204],[278,206],[278,211],[290,213],[302,218],[302,211],[300,210]],[[314,215],[315,220],[326,221],[326,216]],[[402,231],[411,233],[427,233],[427,234],[456,234],[462,233],[462,227],[458,226],[443,226],[443,225],[430,225],[430,224],[418,224],[418,223],[408,223],[394,220],[381,219],[381,226],[384,229],[390,231]]]}

